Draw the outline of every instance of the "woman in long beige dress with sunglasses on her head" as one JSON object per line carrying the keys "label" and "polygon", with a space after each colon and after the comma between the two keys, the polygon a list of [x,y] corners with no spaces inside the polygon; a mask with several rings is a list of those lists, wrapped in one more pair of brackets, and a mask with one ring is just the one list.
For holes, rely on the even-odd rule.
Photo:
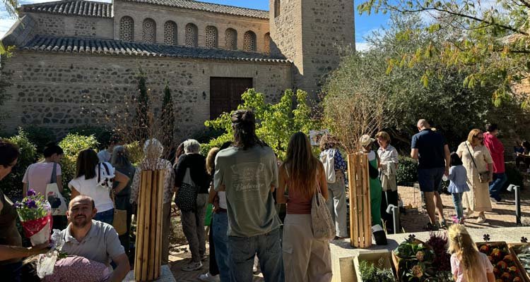
{"label": "woman in long beige dress with sunglasses on her head", "polygon": [[464,192],[462,198],[467,207],[466,216],[478,212],[477,223],[484,223],[484,212],[491,212],[489,183],[493,180],[493,159],[484,146],[482,130],[471,130],[467,140],[459,145],[457,154],[467,171],[469,191]]}

